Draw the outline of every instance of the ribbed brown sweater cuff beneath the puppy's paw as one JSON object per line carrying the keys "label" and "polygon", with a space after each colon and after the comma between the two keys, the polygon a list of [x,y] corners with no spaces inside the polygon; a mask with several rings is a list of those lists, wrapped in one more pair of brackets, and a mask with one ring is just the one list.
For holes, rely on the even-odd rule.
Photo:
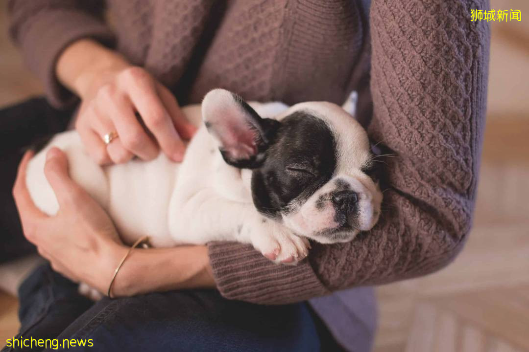
{"label": "ribbed brown sweater cuff beneath the puppy's paw", "polygon": [[305,259],[297,265],[275,264],[251,245],[208,243],[217,289],[227,299],[279,305],[329,294]]}

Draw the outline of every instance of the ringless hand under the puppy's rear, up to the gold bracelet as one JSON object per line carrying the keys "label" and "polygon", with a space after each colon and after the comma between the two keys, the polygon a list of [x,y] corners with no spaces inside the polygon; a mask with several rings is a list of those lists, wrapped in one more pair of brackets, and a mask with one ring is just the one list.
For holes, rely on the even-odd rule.
{"label": "ringless hand under the puppy's rear, up to the gold bracelet", "polygon": [[55,216],[42,213],[34,205],[25,184],[31,156],[24,155],[13,188],[24,235],[55,271],[105,292],[121,253],[126,251],[112,221],[68,177],[66,156],[57,148],[48,152],[44,171],[59,202],[59,212]]}

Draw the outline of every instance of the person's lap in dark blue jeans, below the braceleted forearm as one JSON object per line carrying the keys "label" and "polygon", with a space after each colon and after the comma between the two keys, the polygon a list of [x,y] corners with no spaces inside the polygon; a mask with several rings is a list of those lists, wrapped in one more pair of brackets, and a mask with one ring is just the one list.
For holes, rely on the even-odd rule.
{"label": "person's lap in dark blue jeans, below the braceleted forearm", "polygon": [[85,342],[77,350],[320,350],[306,303],[253,305],[227,300],[215,290],[169,291],[92,303],[47,264],[24,281],[20,298],[22,327],[15,339],[57,338],[59,344],[65,339],[91,339],[93,346]]}

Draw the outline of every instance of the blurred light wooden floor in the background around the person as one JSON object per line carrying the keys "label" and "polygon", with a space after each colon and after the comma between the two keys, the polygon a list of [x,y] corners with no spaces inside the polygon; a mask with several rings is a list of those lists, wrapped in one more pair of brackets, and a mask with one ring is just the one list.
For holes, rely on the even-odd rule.
{"label": "blurred light wooden floor in the background around the person", "polygon": [[[529,2],[492,1],[501,9],[522,3]],[[522,13],[529,14],[525,7]],[[0,2],[0,26],[5,23]],[[527,24],[493,25],[486,138],[469,241],[448,268],[377,289],[376,352],[529,351]],[[524,35],[527,40],[520,40]],[[39,91],[0,33],[0,106]],[[17,330],[16,311],[16,299],[0,292],[0,345]]]}

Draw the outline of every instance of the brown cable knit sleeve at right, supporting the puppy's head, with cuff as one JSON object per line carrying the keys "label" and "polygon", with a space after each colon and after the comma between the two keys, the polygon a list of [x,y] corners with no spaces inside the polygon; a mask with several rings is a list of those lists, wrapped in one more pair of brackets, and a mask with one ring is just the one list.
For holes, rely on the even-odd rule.
{"label": "brown cable knit sleeve at right, supporting the puppy's head, with cuff", "polygon": [[489,28],[485,2],[373,0],[368,128],[387,158],[383,215],[350,243],[313,245],[296,267],[250,246],[212,243],[222,294],[287,303],[424,275],[448,264],[470,230],[484,129]]}

